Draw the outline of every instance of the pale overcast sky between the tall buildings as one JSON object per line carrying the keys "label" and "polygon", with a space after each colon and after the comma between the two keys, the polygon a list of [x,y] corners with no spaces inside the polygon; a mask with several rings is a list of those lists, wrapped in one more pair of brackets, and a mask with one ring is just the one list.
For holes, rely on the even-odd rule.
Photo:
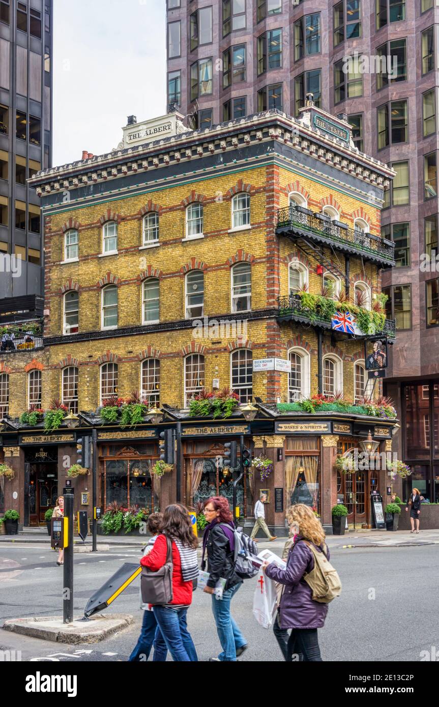
{"label": "pale overcast sky between the tall buildings", "polygon": [[166,112],[165,0],[54,1],[53,165],[109,152]]}

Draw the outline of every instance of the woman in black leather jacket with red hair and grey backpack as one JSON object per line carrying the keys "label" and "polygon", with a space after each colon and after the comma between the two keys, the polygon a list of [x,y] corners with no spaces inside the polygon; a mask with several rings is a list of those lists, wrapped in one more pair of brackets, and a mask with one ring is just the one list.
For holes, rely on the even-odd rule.
{"label": "woman in black leather jacket with red hair and grey backpack", "polygon": [[[209,658],[209,660],[215,662],[236,661],[236,658],[242,655],[247,648],[247,641],[230,614],[230,602],[242,585],[242,579],[235,572],[233,517],[227,499],[220,496],[209,498],[204,506],[204,515],[208,525],[204,530],[201,569],[204,570],[206,566],[204,554],[207,551],[207,571],[209,572],[209,580],[204,592],[212,595],[213,618],[223,648],[218,658]],[[226,580],[221,600],[213,594],[220,579]]]}

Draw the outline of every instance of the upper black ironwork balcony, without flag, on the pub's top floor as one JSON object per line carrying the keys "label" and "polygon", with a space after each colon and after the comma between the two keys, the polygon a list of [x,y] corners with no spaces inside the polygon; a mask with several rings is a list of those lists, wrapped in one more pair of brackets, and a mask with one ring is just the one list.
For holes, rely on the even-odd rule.
{"label": "upper black ironwork balcony, without flag, on the pub's top floor", "polygon": [[394,243],[386,238],[348,228],[345,223],[331,221],[324,214],[313,214],[302,206],[278,209],[276,233],[289,238],[305,238],[319,245],[336,247],[352,255],[361,255],[379,267],[393,267]]}

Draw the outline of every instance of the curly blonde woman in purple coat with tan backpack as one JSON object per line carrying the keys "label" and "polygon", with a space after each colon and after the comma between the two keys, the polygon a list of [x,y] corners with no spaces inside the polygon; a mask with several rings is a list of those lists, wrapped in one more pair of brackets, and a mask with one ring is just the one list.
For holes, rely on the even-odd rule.
{"label": "curly blonde woman in purple coat with tan backpack", "polygon": [[303,541],[312,542],[319,552],[325,551],[327,559],[329,549],[324,544],[322,525],[309,506],[303,503],[291,506],[288,522],[298,525],[299,534],[289,551],[286,569],[281,570],[276,563],[271,562],[264,563],[263,570],[267,577],[284,585],[279,623],[281,629],[292,629],[288,654],[293,656],[302,653],[306,662],[321,661],[317,629],[324,626],[328,606],[312,599],[312,590],[303,579],[314,568],[312,551]]}

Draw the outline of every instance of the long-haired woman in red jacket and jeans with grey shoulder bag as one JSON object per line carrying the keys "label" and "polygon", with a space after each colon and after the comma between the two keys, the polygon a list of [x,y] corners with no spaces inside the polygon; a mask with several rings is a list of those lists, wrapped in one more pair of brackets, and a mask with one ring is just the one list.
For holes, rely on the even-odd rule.
{"label": "long-haired woman in red jacket and jeans with grey shoulder bag", "polygon": [[[175,503],[165,508],[162,532],[151,552],[142,557],[141,565],[156,572],[166,562],[168,545],[172,542],[172,600],[169,604],[154,604],[153,612],[163,639],[176,661],[197,661],[197,651],[187,630],[186,614],[192,604],[193,580],[198,577],[198,540],[192,531],[187,508]],[[154,662],[166,660],[160,643],[154,652]]]}

